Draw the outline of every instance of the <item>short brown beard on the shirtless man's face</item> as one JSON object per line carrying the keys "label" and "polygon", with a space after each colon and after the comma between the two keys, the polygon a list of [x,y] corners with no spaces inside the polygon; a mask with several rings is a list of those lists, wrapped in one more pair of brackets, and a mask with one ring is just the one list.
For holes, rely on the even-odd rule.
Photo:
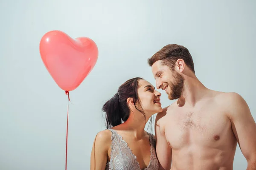
{"label": "short brown beard on the shirtless man's face", "polygon": [[183,86],[184,86],[184,78],[180,74],[174,71],[173,76],[174,76],[174,82],[170,83],[171,92],[170,94],[168,94],[168,98],[170,100],[175,100],[180,98],[183,92]]}

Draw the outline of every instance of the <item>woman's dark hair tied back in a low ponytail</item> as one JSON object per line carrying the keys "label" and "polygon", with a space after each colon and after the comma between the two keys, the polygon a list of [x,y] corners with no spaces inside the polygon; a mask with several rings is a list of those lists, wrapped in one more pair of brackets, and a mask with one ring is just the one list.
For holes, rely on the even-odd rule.
{"label": "woman's dark hair tied back in a low ponytail", "polygon": [[[131,97],[134,102],[135,108],[140,111],[135,103],[139,100],[138,96],[138,88],[139,88],[139,81],[143,79],[140,77],[135,77],[133,79],[127,80],[125,83],[123,83],[117,93],[109,99],[102,107],[102,111],[106,113],[105,115],[105,124],[107,129],[122,124],[122,121],[126,121],[130,115],[130,108],[127,103],[127,99]],[[144,117],[145,113],[143,111],[140,111]],[[152,124],[152,118],[150,119],[150,122]],[[152,128],[152,125],[151,125]]]}

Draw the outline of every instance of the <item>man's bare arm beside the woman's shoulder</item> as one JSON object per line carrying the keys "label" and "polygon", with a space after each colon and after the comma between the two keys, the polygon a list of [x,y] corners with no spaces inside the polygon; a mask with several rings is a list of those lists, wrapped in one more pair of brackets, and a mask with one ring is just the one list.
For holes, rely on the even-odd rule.
{"label": "man's bare arm beside the woman's shoulder", "polygon": [[172,148],[166,141],[164,127],[161,125],[161,118],[166,115],[167,108],[163,112],[157,113],[155,121],[155,134],[156,134],[156,153],[159,161],[159,170],[170,170],[172,164]]}

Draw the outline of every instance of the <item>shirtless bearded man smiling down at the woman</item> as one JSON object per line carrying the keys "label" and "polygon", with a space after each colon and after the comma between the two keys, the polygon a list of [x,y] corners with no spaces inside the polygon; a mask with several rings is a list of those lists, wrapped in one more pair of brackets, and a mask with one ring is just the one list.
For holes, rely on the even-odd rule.
{"label": "shirtless bearded man smiling down at the woman", "polygon": [[148,64],[157,89],[177,99],[156,117],[160,170],[233,170],[237,143],[256,170],[256,123],[239,94],[206,88],[181,45],[166,45]]}

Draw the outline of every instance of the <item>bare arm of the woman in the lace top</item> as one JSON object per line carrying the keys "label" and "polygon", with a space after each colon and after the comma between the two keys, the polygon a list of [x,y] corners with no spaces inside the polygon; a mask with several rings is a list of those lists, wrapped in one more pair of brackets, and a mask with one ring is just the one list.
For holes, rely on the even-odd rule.
{"label": "bare arm of the woman in the lace top", "polygon": [[111,131],[103,130],[96,135],[91,152],[90,170],[105,170],[110,145]]}

